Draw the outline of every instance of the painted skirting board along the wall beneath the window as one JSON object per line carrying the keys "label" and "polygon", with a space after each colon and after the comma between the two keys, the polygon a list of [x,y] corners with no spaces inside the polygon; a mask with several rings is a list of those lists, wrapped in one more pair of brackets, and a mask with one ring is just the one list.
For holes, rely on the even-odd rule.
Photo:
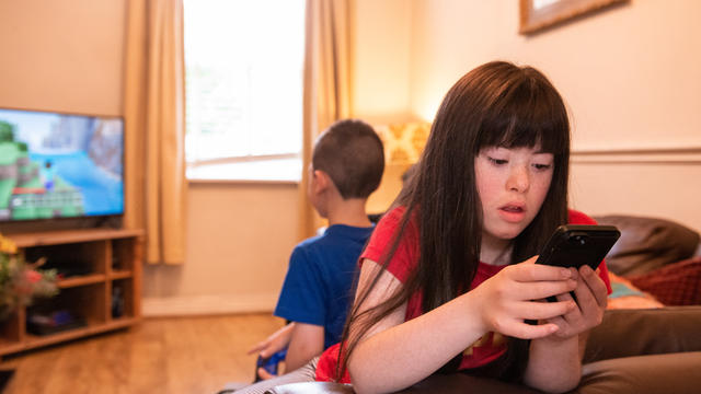
{"label": "painted skirting board along the wall beneath the window", "polygon": [[192,316],[233,313],[272,313],[278,293],[269,294],[221,294],[143,298],[141,314],[143,317]]}

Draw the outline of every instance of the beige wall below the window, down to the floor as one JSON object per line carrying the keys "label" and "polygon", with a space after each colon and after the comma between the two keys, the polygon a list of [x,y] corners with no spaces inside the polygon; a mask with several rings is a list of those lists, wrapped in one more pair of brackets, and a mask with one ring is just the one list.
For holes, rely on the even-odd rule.
{"label": "beige wall below the window, down to the floor", "polygon": [[295,184],[191,183],[187,256],[146,266],[148,315],[269,311],[299,229]]}

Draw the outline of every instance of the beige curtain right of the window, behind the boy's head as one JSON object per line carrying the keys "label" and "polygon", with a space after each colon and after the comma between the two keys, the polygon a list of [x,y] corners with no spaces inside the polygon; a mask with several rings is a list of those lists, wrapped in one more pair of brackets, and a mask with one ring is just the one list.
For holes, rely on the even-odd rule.
{"label": "beige curtain right of the window, behind the boy's head", "polygon": [[352,116],[350,0],[307,0],[300,237],[322,225],[307,198],[314,139],[333,121]]}

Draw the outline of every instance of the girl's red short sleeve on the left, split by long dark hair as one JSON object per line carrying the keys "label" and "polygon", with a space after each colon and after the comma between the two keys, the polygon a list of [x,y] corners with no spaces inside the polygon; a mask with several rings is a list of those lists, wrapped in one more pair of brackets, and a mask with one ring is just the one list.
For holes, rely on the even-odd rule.
{"label": "girl's red short sleeve on the left, split by long dark hair", "polygon": [[[363,259],[371,259],[381,264],[384,253],[388,253],[394,241],[394,233],[399,230],[405,208],[398,207],[387,212],[380,222],[377,223],[370,241],[360,255],[360,264]],[[392,274],[401,282],[405,282],[409,274],[416,267],[418,256],[418,231],[415,222],[412,220],[400,241],[397,252],[392,256],[387,270]]]}

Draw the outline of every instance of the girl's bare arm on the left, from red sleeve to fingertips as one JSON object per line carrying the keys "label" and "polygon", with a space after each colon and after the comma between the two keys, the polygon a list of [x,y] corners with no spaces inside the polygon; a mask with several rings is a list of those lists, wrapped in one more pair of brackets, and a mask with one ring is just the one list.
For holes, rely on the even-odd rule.
{"label": "girl's bare arm on the left, from red sleeve to fingertips", "polygon": [[[358,293],[380,266],[366,259]],[[356,392],[382,393],[407,387],[438,370],[487,332],[524,338],[552,334],[552,323],[531,326],[524,318],[547,320],[567,313],[574,303],[532,302],[573,290],[571,271],[544,265],[519,264],[504,268],[476,289],[414,320],[404,322],[406,305],[377,323],[348,360]],[[387,300],[402,283],[383,270],[360,312]],[[354,326],[350,327],[354,336]]]}

